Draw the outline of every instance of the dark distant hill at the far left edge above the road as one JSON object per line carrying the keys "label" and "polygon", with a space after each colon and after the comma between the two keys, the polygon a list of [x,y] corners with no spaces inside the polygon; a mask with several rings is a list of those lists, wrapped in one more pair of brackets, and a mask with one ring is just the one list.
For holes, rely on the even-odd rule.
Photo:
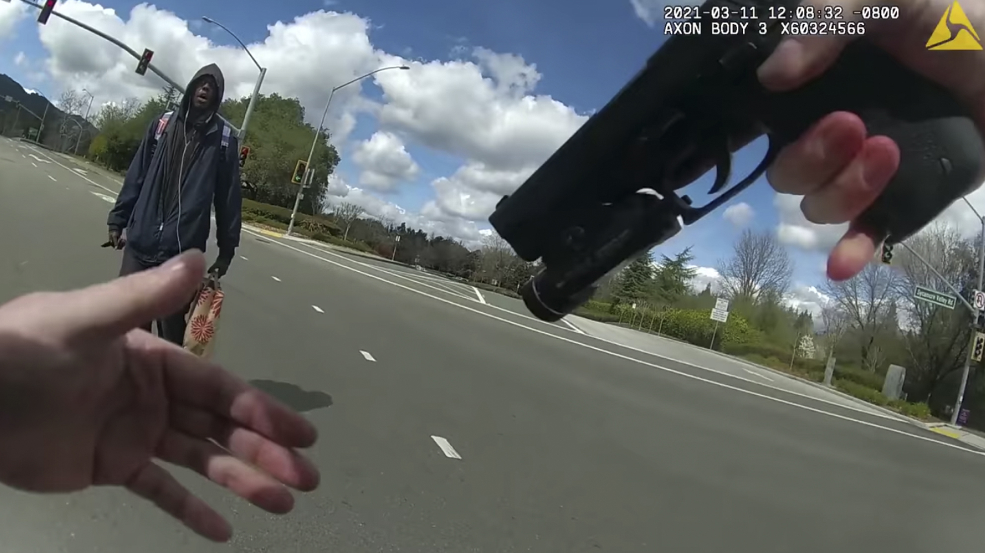
{"label": "dark distant hill at the far left edge above the road", "polygon": [[[9,101],[8,97],[10,97]],[[23,107],[20,113],[18,113],[19,107]],[[26,113],[25,110],[29,112]],[[44,127],[39,142],[59,152],[70,152],[75,149],[79,126],[84,129],[82,142],[79,144],[80,154],[89,149],[89,141],[99,133],[99,130],[89,121],[85,121],[82,116],[66,114],[48,98],[26,91],[20,83],[0,73],[0,134],[8,137],[33,138],[29,134],[29,129],[40,127],[41,117],[44,118]],[[79,125],[72,123],[65,125],[66,131],[63,129],[63,123],[70,117],[78,121]]]}

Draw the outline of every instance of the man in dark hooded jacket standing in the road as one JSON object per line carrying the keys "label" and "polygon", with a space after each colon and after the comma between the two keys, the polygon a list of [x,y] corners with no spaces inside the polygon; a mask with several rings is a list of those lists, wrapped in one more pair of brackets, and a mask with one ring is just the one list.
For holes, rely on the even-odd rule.
{"label": "man in dark hooded jacket standing in the road", "polygon": [[[242,198],[238,143],[217,116],[225,84],[216,64],[203,67],[180,107],[147,129],[106,221],[109,243],[123,250],[120,276],[157,267],[186,250],[204,252],[212,206],[219,255],[209,273],[218,277],[229,270],[239,245]],[[180,345],[185,311],[158,321],[158,334]]]}

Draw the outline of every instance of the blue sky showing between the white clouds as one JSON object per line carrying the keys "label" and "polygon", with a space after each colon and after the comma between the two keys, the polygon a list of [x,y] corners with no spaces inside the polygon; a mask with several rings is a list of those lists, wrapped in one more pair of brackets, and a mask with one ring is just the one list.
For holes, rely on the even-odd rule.
{"label": "blue sky showing between the white clouds", "polygon": [[[100,4],[116,10],[124,20],[134,6],[132,2],[120,0]],[[277,21],[288,22],[321,9],[351,11],[372,22],[373,47],[409,59],[447,60],[479,46],[495,52],[519,54],[527,63],[535,64],[542,75],[535,93],[549,94],[580,113],[589,113],[604,105],[664,40],[660,29],[647,27],[635,15],[628,0],[502,0],[492,4],[439,0],[413,3],[394,0],[327,3],[323,0],[210,0],[208,3],[159,0],[154,5],[191,22],[191,31],[220,44],[232,44],[233,41],[224,31],[202,25],[199,22],[201,16],[222,21],[245,42],[252,43],[262,41],[268,34],[267,26]],[[203,12],[205,5],[208,8]],[[38,80],[32,76],[48,56],[38,39],[33,18],[21,22],[16,35],[5,43],[0,42],[0,48],[5,54],[0,56],[0,73],[11,75],[26,88],[36,89],[49,97],[57,97],[63,90],[63,85],[52,79]],[[18,52],[24,52],[30,63],[15,64],[14,57]],[[270,72],[276,70],[271,68]],[[381,96],[372,86],[363,87],[362,93],[373,99]],[[312,108],[308,109],[311,111]],[[343,161],[339,172],[349,180],[354,180],[360,171],[352,160],[353,145],[369,138],[378,128],[374,117],[362,114],[349,140],[342,145]],[[418,211],[434,195],[431,181],[453,173],[462,160],[420,144],[408,143],[407,151],[421,166],[419,175],[413,182],[402,184],[395,193],[383,196],[409,211]],[[741,177],[752,170],[763,152],[764,144],[760,141],[738,154],[734,160],[734,176]],[[706,198],[704,192],[709,183],[706,175],[689,188],[696,202]],[[773,200],[772,190],[765,182],[759,182],[734,203],[745,202],[753,208],[755,217],[750,224],[755,228],[775,229],[779,217]],[[672,255],[692,246],[695,264],[717,266],[719,259],[729,255],[732,242],[738,236],[737,227],[725,220],[723,212],[724,208],[708,215],[665,246],[657,248],[656,253]],[[795,260],[795,281],[818,283],[822,278],[823,256],[797,249],[790,252]]]}

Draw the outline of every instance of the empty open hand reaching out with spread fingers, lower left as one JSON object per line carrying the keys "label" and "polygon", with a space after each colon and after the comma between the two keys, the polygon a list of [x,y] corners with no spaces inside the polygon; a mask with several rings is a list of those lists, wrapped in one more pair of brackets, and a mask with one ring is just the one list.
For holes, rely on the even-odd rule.
{"label": "empty open hand reaching out with spread fingers, lower left", "polygon": [[[123,486],[217,541],[230,524],[156,460],[186,466],[271,513],[318,471],[314,427],[222,367],[139,325],[181,309],[197,251],[163,267],[0,307],[0,483],[33,492]],[[213,442],[214,441],[214,442]]]}

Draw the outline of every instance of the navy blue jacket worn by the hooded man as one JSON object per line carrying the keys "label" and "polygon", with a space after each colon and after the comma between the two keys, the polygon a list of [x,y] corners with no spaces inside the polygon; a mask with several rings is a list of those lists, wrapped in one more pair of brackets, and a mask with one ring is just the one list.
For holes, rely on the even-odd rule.
{"label": "navy blue jacket worn by the hooded man", "polygon": [[[198,71],[188,83],[180,109],[187,113],[194,94],[193,85],[202,76],[212,76],[218,85],[218,106],[223,99],[225,82],[215,64]],[[163,114],[162,114],[163,115]],[[179,253],[199,249],[205,251],[211,229],[210,212],[216,208],[216,241],[221,257],[232,258],[239,246],[242,226],[242,197],[239,190],[239,144],[230,136],[225,152],[222,148],[223,126],[217,116],[206,123],[200,147],[188,167],[187,176],[180,187],[180,209],[174,206],[169,213],[162,213],[164,204],[164,145],[167,133],[181,132],[179,117],[171,116],[164,135],[155,144],[155,132],[160,118],[147,129],[137,154],[130,163],[123,188],[116,197],[116,205],[109,212],[107,224],[111,230],[126,229],[127,248],[142,261],[152,264],[164,261]],[[230,133],[231,135],[231,133]]]}

